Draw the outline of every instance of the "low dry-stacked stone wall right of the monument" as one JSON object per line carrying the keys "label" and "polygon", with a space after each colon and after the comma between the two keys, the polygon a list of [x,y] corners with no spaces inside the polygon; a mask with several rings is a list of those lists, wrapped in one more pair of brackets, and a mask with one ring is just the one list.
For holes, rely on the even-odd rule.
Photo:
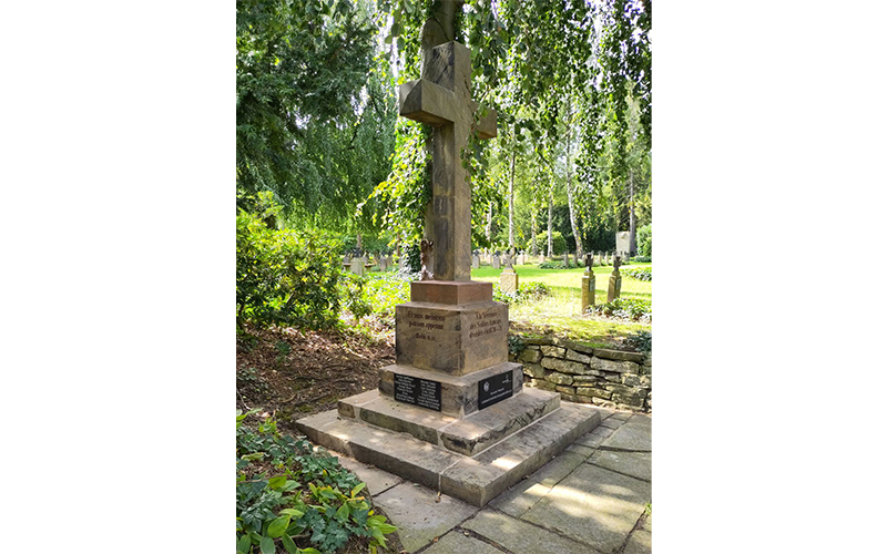
{"label": "low dry-stacked stone wall right of the monument", "polygon": [[523,363],[526,386],[560,392],[571,402],[652,411],[651,355],[591,348],[555,337],[522,340],[526,349],[514,361]]}

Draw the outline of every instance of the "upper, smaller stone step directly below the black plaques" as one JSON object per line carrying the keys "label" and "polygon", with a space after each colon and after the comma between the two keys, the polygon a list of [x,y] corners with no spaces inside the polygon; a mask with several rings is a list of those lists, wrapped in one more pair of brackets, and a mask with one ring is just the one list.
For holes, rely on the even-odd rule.
{"label": "upper, smaller stone step directly below the black plaques", "polygon": [[462,419],[397,402],[378,390],[339,400],[338,413],[421,441],[473,455],[557,410],[560,396],[540,389],[502,400]]}

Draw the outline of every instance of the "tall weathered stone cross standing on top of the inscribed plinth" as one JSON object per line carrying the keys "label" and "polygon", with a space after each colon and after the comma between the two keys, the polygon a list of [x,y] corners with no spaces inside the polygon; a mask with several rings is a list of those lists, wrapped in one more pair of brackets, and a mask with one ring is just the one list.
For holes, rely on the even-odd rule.
{"label": "tall weathered stone cross standing on top of the inscribed plinth", "polygon": [[431,209],[426,234],[435,244],[438,280],[471,280],[471,184],[460,153],[468,136],[496,136],[496,112],[475,122],[470,51],[447,42],[426,52],[422,76],[400,85],[400,115],[435,127],[432,134]]}

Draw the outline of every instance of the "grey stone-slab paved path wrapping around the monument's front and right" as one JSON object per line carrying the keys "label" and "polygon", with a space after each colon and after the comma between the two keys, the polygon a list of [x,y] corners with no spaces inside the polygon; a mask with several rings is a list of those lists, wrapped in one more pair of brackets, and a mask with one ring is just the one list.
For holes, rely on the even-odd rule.
{"label": "grey stone-slab paved path wrapping around the monument's front and right", "polygon": [[601,410],[601,424],[482,510],[340,456],[421,554],[651,552],[652,418]]}

